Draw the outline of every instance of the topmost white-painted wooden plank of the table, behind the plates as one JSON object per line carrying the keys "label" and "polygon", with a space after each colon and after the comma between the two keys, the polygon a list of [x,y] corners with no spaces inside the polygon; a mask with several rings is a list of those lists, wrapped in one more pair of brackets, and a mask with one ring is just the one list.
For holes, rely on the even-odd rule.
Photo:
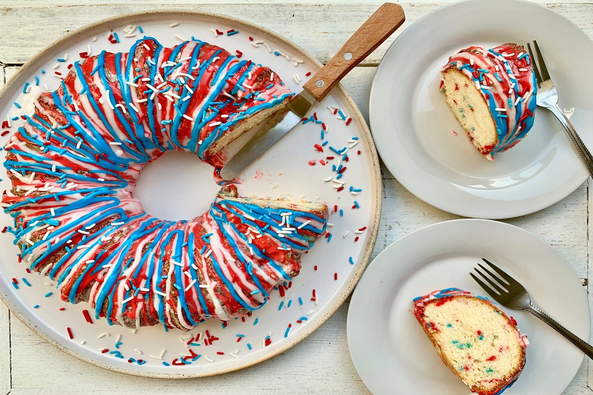
{"label": "topmost white-painted wooden plank of the table, behind the plates", "polygon": [[[353,4],[276,4],[264,7],[251,4],[168,3],[167,8],[211,11],[243,18],[270,28],[303,47],[321,62],[327,62],[348,37],[378,8],[380,2]],[[413,21],[440,7],[443,3],[401,2],[407,21],[401,32]],[[593,37],[593,4],[546,3],[565,15]],[[122,4],[55,5],[31,2],[26,5],[0,7],[0,62],[21,64],[44,46],[68,31],[113,15],[163,8],[162,2],[125,2]],[[270,18],[269,15],[274,15]],[[320,21],[323,20],[323,24]],[[364,64],[377,65],[394,33]]]}

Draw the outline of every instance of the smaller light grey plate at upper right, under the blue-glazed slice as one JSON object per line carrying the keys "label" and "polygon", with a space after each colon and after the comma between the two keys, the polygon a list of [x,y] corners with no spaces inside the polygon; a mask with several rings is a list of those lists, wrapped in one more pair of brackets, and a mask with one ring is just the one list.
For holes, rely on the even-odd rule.
{"label": "smaller light grey plate at upper right, under the blue-glazed slice", "polygon": [[593,79],[582,78],[593,64],[593,41],[566,18],[532,2],[461,1],[400,34],[375,75],[371,131],[385,166],[404,187],[450,213],[502,219],[541,210],[585,181],[585,166],[547,110],[538,108],[525,140],[490,162],[474,149],[439,92],[441,68],[455,50],[534,39],[560,105],[572,113],[570,121],[593,149]]}

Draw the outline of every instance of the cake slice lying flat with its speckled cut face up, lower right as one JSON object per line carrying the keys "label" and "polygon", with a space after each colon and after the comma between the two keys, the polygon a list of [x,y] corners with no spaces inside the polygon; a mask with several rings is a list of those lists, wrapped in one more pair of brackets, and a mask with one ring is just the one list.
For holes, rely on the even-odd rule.
{"label": "cake slice lying flat with its speckled cut face up, lower right", "polygon": [[448,288],[414,303],[414,315],[439,357],[472,392],[500,394],[517,380],[529,341],[490,300]]}

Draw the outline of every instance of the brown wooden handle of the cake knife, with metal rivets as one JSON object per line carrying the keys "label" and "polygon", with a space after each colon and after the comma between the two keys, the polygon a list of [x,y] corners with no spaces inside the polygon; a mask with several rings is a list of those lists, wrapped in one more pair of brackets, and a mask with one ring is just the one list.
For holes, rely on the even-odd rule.
{"label": "brown wooden handle of the cake knife, with metal rivets", "polygon": [[303,88],[317,101],[323,100],[340,80],[365,57],[377,49],[406,20],[397,4],[385,3],[352,34],[346,44],[317,72]]}

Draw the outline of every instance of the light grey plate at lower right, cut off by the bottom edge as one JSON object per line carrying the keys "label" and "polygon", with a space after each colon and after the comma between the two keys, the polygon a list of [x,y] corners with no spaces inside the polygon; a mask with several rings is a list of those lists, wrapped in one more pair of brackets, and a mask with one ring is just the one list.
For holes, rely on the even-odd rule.
{"label": "light grey plate at lower right, cut off by the bottom edge", "polygon": [[[583,339],[589,307],[581,281],[550,245],[516,226],[453,220],[424,227],[388,246],[366,269],[348,310],[350,355],[374,395],[467,395],[470,391],[436,354],[413,314],[413,298],[444,288],[487,293],[468,274],[481,258],[499,265],[533,302]],[[515,317],[531,345],[525,369],[505,395],[558,395],[583,353],[525,311]],[[562,367],[562,368],[560,368]]]}

